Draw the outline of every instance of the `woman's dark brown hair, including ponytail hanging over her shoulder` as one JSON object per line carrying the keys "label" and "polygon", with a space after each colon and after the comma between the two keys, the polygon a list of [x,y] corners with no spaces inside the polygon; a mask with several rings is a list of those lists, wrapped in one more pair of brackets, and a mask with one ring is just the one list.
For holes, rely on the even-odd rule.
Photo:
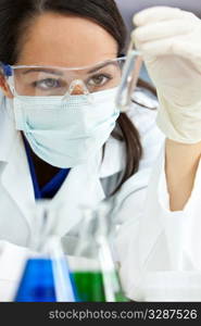
{"label": "woman's dark brown hair, including ponytail hanging over her shoulder", "polygon": [[[110,33],[118,45],[121,55],[125,51],[126,27],[113,0],[0,0],[0,61],[15,64],[20,45],[29,22],[43,12],[73,14],[92,20]],[[23,35],[24,34],[24,35]],[[121,113],[120,131],[112,136],[126,145],[126,167],[113,193],[138,171],[142,148],[138,130],[125,113]],[[112,158],[111,158],[112,160]]]}

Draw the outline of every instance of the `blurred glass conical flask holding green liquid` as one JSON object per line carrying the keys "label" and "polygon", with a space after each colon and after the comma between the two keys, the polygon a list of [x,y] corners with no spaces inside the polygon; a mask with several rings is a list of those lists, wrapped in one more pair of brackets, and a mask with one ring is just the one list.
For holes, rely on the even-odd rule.
{"label": "blurred glass conical flask holding green liquid", "polygon": [[76,258],[71,261],[79,301],[127,301],[111,252],[108,206],[101,204],[96,211],[87,208],[83,214]]}

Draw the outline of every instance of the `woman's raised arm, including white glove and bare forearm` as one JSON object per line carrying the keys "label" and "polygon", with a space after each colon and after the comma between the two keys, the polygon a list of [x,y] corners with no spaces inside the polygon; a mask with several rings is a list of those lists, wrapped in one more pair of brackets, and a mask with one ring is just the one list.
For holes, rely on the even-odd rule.
{"label": "woman's raised arm, including white glove and bare forearm", "polygon": [[181,211],[201,153],[201,20],[180,9],[155,7],[139,12],[134,22],[134,42],[158,91],[158,126],[168,139],[171,210]]}

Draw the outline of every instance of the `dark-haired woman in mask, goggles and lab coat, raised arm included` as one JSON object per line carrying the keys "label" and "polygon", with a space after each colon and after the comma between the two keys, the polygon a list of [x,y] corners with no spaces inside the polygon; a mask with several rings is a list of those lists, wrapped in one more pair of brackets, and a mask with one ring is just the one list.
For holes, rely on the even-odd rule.
{"label": "dark-haired woman in mask, goggles and lab coat, raised arm included", "polygon": [[[167,186],[162,158],[150,179],[145,210],[151,166],[163,140],[152,111],[135,104],[127,114],[118,116],[113,104],[114,89],[121,78],[122,59],[116,58],[122,54],[125,37],[114,2],[85,1],[84,5],[81,1],[81,8],[79,4],[80,1],[64,0],[0,1],[1,88],[4,93],[0,137],[2,300],[11,299],[9,287],[17,279],[18,262],[32,242],[33,216],[29,208],[39,198],[52,198],[56,205],[65,200],[66,217],[59,221],[56,233],[66,253],[71,254],[81,217],[79,206],[96,205],[114,193],[111,200],[115,204],[113,216],[118,225],[117,260],[125,290],[133,299],[147,299],[149,277],[155,276],[155,271],[161,271],[164,278],[169,275],[176,277],[177,273],[172,275],[169,271],[184,268],[187,262],[189,268],[193,268],[191,255],[184,253],[186,242],[181,230],[186,220],[181,212],[172,210],[181,210],[188,200],[199,146],[183,145],[180,148],[180,139],[166,134],[173,139],[166,142]],[[194,29],[197,39],[200,21],[194,16],[189,18],[187,13],[175,9],[154,10],[156,14],[151,11],[137,16],[136,24],[140,27],[134,38],[158,87],[163,125],[168,125],[168,130],[172,130],[174,122],[178,125],[181,117],[185,127],[190,125],[188,118],[193,118],[190,112],[199,102],[199,92],[196,91],[199,80],[196,83],[193,76],[197,61],[191,53],[189,59],[187,52],[179,52],[180,48],[173,45],[181,38],[181,46],[186,41],[188,49],[192,49],[193,38],[191,40],[189,34]],[[180,20],[184,17],[189,29],[181,27]],[[159,23],[159,20],[162,22]],[[169,26],[168,20],[174,21],[176,32],[165,28]],[[158,24],[162,24],[160,27],[163,28],[159,29]],[[155,30],[161,34],[156,35]],[[165,55],[160,52],[160,45],[155,47],[159,41],[162,46],[168,43],[164,46]],[[153,48],[159,52],[152,53]],[[176,75],[174,68],[169,70],[171,63],[177,63]],[[185,98],[179,93],[180,78],[175,78],[180,75],[188,76],[186,78],[190,82],[190,86],[181,83]],[[191,95],[188,87],[192,87],[192,83]],[[180,112],[183,106],[189,109],[189,114]],[[109,137],[113,129],[115,133]],[[196,131],[196,128],[192,130]],[[183,133],[183,124],[178,133]],[[191,134],[188,136],[194,141]],[[190,155],[181,168],[179,162],[184,151],[187,155],[189,151]],[[172,164],[176,154],[175,164],[178,166],[174,168],[178,172],[175,178]],[[177,183],[184,183],[180,184],[183,192],[179,197],[175,196]]]}

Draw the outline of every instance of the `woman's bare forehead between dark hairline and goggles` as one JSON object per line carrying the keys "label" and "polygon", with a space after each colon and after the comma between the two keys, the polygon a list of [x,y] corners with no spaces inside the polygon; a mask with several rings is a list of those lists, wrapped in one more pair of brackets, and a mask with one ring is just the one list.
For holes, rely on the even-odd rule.
{"label": "woman's bare forehead between dark hairline and goggles", "polygon": [[98,24],[47,13],[32,23],[17,64],[87,66],[117,54],[117,42]]}

